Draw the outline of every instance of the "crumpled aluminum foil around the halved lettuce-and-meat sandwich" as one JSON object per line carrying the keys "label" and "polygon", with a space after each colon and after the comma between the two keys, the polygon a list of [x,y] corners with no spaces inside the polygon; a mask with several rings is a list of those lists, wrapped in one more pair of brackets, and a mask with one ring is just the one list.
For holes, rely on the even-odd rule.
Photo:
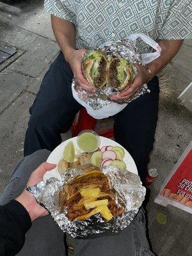
{"label": "crumpled aluminum foil around the halved lettuce-and-meat sandwich", "polygon": [[[116,56],[122,57],[128,60],[130,63],[141,64],[141,54],[138,51],[138,48],[132,40],[123,39],[116,42],[106,42],[99,47],[100,50],[105,51],[108,57]],[[83,60],[86,58],[86,52],[83,56]],[[138,70],[132,65],[134,70],[134,77],[137,76]],[[72,81],[72,86],[74,86],[79,99],[84,100],[88,106],[92,107],[94,110],[100,109],[103,106],[108,105],[112,100],[109,97],[119,91],[114,89],[110,84],[107,84],[104,88],[97,89],[95,92],[88,92],[79,86],[76,78],[74,77]],[[118,104],[125,104],[132,102],[132,100],[138,99],[144,93],[150,93],[150,90],[147,88],[147,84],[143,86],[136,92],[130,99],[118,100],[115,101]]]}

